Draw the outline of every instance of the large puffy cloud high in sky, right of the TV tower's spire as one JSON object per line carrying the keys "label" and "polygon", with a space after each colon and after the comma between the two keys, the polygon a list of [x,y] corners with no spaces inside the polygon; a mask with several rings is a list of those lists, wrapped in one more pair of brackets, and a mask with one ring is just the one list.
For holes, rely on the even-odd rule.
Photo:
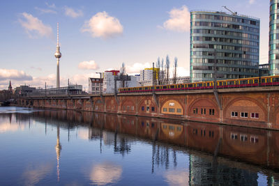
{"label": "large puffy cloud high in sky, right of the TV tower's spire", "polygon": [[84,23],[82,32],[89,32],[93,38],[113,38],[123,33],[123,26],[116,17],[106,12],[96,13]]}

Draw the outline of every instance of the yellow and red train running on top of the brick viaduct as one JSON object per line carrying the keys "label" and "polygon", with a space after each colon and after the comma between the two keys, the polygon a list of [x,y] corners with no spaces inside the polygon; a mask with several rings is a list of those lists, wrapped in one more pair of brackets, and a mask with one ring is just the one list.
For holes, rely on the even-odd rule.
{"label": "yellow and red train running on top of the brick viaduct", "polygon": [[[243,79],[226,79],[216,81],[216,88],[242,88],[253,86],[277,86],[279,85],[278,76],[250,77]],[[195,89],[213,89],[214,82],[195,82],[188,84],[168,84],[155,86],[138,86],[119,88],[119,93],[137,93],[151,91],[183,91]]]}

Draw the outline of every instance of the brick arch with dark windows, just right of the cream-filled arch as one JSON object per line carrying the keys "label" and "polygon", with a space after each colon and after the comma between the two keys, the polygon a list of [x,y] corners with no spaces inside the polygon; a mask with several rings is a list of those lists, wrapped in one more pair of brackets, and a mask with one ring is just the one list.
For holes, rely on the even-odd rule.
{"label": "brick arch with dark windows, just right of the cream-filled arch", "polygon": [[[197,105],[199,102],[204,102],[204,103],[202,103],[201,106],[199,106],[199,105]],[[206,104],[206,102],[208,104]],[[190,104],[190,106],[188,107],[189,108],[188,109],[188,116],[193,115],[193,109],[195,107],[209,107],[209,106],[211,106],[212,109],[215,109],[214,116],[215,117],[219,117],[219,107],[218,107],[218,104],[216,102],[214,102],[213,100],[209,99],[209,98],[207,98],[207,99],[206,98],[199,98],[199,99],[193,101]],[[206,111],[206,112],[209,112],[209,111]]]}

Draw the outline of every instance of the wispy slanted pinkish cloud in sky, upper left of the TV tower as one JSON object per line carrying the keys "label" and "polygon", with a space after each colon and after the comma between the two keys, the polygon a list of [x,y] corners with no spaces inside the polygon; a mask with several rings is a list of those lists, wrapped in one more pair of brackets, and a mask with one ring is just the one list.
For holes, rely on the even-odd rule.
{"label": "wispy slanted pinkish cloud in sky, upper left of the TV tower", "polygon": [[22,13],[22,17],[25,20],[19,20],[19,22],[30,37],[52,36],[52,27],[43,24],[37,17],[33,17],[33,15],[29,13]]}

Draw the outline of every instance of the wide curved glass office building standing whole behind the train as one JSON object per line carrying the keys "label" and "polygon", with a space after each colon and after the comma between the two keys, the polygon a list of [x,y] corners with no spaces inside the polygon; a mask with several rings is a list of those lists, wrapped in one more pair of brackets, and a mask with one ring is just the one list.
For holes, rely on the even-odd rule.
{"label": "wide curved glass office building standing whole behind the train", "polygon": [[259,75],[259,19],[191,12],[190,81],[213,81],[215,74],[217,80]]}

